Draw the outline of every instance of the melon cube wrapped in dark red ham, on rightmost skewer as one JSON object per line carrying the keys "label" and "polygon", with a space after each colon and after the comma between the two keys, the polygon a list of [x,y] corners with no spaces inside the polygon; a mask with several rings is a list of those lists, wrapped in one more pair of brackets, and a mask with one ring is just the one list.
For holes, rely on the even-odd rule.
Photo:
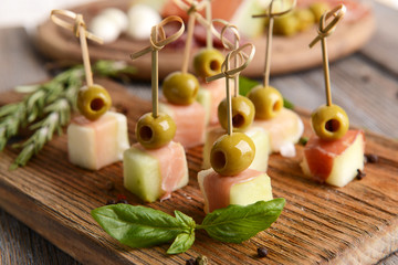
{"label": "melon cube wrapped in dark red ham, on rightmost skewer", "polygon": [[364,169],[365,137],[360,130],[348,130],[333,141],[312,136],[304,149],[303,172],[335,187],[344,187]]}

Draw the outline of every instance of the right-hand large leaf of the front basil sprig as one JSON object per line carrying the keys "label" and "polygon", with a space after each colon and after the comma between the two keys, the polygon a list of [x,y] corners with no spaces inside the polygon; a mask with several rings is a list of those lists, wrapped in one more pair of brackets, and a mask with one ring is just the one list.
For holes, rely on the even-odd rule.
{"label": "right-hand large leaf of the front basil sprig", "polygon": [[229,205],[206,215],[197,229],[205,229],[214,240],[241,243],[271,226],[281,214],[285,200],[259,201],[247,206]]}

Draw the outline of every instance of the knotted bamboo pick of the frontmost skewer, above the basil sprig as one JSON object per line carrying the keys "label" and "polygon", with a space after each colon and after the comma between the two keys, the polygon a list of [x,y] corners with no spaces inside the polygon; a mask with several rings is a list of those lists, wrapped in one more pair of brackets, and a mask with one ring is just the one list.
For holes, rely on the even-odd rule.
{"label": "knotted bamboo pick of the frontmost skewer, above the basil sprig", "polygon": [[[250,47],[250,54],[247,55],[243,51]],[[240,46],[237,50],[229,52],[226,56],[226,61],[221,65],[221,73],[209,76],[206,78],[206,82],[211,82],[219,78],[226,78],[226,89],[227,89],[227,123],[228,123],[228,135],[232,135],[233,125],[232,125],[232,104],[231,104],[231,91],[229,87],[229,80],[234,78],[240,72],[248,67],[249,63],[253,60],[255,53],[255,47],[252,43],[247,43]],[[230,61],[235,56],[240,56],[241,65],[235,66],[234,68],[229,68]]]}

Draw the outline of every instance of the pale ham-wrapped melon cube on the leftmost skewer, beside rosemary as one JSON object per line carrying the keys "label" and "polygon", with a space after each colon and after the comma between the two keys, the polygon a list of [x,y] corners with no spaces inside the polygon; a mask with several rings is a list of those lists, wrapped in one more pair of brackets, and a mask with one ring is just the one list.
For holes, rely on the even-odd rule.
{"label": "pale ham-wrapped melon cube on the leftmost skewer, beside rosemary", "polygon": [[98,170],[121,161],[128,147],[123,114],[107,112],[94,121],[78,116],[67,127],[69,159],[85,169]]}

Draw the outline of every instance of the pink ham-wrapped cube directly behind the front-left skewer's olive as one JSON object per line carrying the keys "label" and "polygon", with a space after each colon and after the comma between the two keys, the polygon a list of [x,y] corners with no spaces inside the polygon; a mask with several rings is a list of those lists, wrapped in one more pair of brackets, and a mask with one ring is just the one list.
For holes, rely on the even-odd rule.
{"label": "pink ham-wrapped cube directly behind the front-left skewer's olive", "polygon": [[177,130],[174,141],[185,148],[203,145],[206,132],[206,110],[198,102],[190,105],[160,103],[159,110],[168,114],[176,123]]}

